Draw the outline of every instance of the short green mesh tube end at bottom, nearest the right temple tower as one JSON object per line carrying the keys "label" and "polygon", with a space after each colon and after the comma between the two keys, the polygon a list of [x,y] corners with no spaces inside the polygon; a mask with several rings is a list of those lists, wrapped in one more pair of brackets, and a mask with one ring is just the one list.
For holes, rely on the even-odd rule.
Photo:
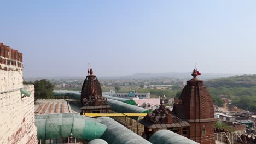
{"label": "short green mesh tube end at bottom, nearest the right temple tower", "polygon": [[174,133],[173,131],[165,130],[165,129],[156,131],[156,133],[154,133],[150,137],[149,142],[153,144],[170,144],[170,143],[196,144],[197,143],[193,140],[188,139],[187,137],[184,137],[182,135]]}

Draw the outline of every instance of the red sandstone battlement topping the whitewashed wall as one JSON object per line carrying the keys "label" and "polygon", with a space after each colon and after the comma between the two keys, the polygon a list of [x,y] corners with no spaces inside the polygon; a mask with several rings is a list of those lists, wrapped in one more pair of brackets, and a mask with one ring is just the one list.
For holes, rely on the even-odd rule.
{"label": "red sandstone battlement topping the whitewashed wall", "polygon": [[19,71],[23,69],[22,53],[0,43],[0,69]]}

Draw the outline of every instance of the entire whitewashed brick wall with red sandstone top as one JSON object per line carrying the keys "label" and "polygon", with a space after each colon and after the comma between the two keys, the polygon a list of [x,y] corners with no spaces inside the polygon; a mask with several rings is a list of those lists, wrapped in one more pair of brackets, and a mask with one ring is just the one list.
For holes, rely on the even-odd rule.
{"label": "entire whitewashed brick wall with red sandstone top", "polygon": [[[0,144],[37,143],[34,86],[23,85],[22,53],[0,43]],[[31,92],[21,97],[20,88]]]}

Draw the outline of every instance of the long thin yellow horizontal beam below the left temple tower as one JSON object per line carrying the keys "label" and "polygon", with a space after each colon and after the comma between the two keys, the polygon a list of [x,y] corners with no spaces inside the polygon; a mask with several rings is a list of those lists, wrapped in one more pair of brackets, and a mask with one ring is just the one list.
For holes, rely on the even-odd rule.
{"label": "long thin yellow horizontal beam below the left temple tower", "polygon": [[83,113],[84,116],[89,117],[144,117],[147,114],[148,113]]}

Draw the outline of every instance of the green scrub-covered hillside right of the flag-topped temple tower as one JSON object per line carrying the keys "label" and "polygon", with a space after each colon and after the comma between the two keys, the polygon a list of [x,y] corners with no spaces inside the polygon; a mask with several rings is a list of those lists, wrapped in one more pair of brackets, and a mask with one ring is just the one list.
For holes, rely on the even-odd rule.
{"label": "green scrub-covered hillside right of the flag-topped temple tower", "polygon": [[213,99],[225,97],[232,101],[232,105],[256,112],[256,75],[211,79],[204,84]]}

